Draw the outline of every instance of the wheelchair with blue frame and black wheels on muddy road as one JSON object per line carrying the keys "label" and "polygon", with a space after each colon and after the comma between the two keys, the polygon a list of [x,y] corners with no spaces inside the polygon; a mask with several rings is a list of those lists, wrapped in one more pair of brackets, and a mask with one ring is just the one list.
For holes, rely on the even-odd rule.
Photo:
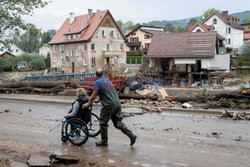
{"label": "wheelchair with blue frame and black wheels on muddy road", "polygon": [[69,140],[73,145],[81,146],[88,141],[89,137],[100,134],[99,117],[91,113],[89,122],[84,122],[79,117],[70,117],[62,121],[61,134],[62,142]]}

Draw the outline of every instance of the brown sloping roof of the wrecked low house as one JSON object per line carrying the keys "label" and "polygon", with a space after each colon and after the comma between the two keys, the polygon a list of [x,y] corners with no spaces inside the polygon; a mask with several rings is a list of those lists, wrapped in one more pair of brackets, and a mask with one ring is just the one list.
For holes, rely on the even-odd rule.
{"label": "brown sloping roof of the wrecked low house", "polygon": [[149,58],[214,57],[216,32],[156,34],[151,41]]}

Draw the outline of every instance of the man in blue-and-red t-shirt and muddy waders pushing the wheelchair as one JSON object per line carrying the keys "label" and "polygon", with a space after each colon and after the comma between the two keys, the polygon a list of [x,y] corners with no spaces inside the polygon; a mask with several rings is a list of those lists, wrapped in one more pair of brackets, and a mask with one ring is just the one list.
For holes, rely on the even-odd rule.
{"label": "man in blue-and-red t-shirt and muddy waders pushing the wheelchair", "polygon": [[88,108],[90,104],[93,103],[96,96],[99,95],[103,106],[100,114],[102,140],[96,142],[96,145],[108,145],[108,122],[111,119],[114,126],[130,138],[130,146],[132,146],[135,143],[137,136],[134,135],[122,122],[121,103],[113,83],[103,76],[103,71],[101,69],[96,71],[96,76],[97,80],[95,82],[94,91],[89,102],[84,105],[84,108]]}

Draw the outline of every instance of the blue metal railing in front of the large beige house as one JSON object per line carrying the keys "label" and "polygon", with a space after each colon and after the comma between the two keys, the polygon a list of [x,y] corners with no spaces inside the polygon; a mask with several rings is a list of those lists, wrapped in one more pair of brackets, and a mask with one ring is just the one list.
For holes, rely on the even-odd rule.
{"label": "blue metal railing in front of the large beige house", "polygon": [[58,74],[58,75],[40,75],[26,77],[27,81],[86,81],[86,78],[95,77],[96,73],[81,73],[81,74]]}

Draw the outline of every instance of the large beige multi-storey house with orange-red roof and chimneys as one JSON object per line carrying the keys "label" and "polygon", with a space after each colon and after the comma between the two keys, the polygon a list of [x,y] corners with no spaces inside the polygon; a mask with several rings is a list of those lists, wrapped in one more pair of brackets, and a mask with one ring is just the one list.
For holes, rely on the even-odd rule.
{"label": "large beige multi-storey house with orange-red roof and chimneys", "polygon": [[74,16],[70,13],[49,42],[51,70],[64,73],[94,72],[109,62],[126,63],[125,37],[109,10]]}

